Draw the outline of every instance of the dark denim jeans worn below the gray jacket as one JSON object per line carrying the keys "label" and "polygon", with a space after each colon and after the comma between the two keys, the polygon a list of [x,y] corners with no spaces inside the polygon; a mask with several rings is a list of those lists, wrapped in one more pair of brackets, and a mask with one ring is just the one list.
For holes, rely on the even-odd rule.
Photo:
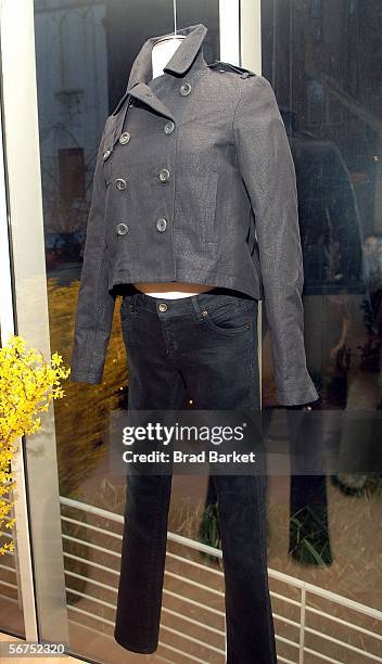
{"label": "dark denim jeans worn below the gray jacket", "polygon": [[[181,409],[188,396],[200,409],[258,409],[257,307],[256,299],[218,288],[179,299],[136,290],[125,295],[120,316],[128,408]],[[227,663],[273,664],[266,474],[215,475],[213,481],[226,585]],[[114,637],[133,652],[153,653],[158,643],[170,491],[170,475],[127,477]]]}

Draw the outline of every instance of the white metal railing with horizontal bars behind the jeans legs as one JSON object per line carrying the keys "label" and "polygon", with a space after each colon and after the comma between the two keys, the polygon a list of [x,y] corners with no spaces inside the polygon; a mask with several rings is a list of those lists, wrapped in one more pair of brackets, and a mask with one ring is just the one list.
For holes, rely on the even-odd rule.
{"label": "white metal railing with horizontal bars behind the jeans legs", "polygon": [[[122,515],[115,514],[107,510],[92,507],[92,506],[89,506],[82,502],[78,502],[76,500],[72,500],[69,498],[64,498],[64,497],[61,497],[61,503],[62,506],[75,508],[75,509],[80,510],[81,512],[86,512],[88,515],[93,514],[102,519],[105,519],[107,521],[115,522],[116,524],[123,524]],[[117,542],[120,544],[122,535],[119,535],[118,533],[114,533],[111,529],[106,529],[101,526],[89,524],[84,521],[76,520],[76,519],[73,519],[66,515],[62,515],[62,519],[63,519],[63,522],[72,523],[75,526],[82,526],[85,528],[88,528],[89,532],[98,533],[100,535],[107,535],[109,537],[114,538],[116,544]],[[215,549],[214,547],[209,547],[207,545],[201,544],[193,539],[189,539],[181,535],[168,532],[167,538],[169,542],[175,542],[176,545],[180,545],[180,547],[183,548],[184,551],[195,550],[202,553],[206,553],[215,559],[221,559],[222,557],[221,551],[219,549]],[[120,558],[118,545],[116,547],[116,550],[111,550],[110,548],[102,547],[91,541],[84,540],[79,537],[73,537],[66,534],[63,534],[63,539],[64,539],[64,547],[65,547],[65,541],[67,542],[72,541],[76,545],[84,545],[92,553],[106,554],[110,557],[111,560],[117,561]],[[99,571],[107,572],[109,574],[112,574],[116,580],[118,578],[118,574],[119,574],[118,571],[116,569],[113,569],[112,566],[109,566],[109,564],[99,563],[93,560],[89,560],[88,558],[82,558],[80,556],[69,553],[67,551],[64,551],[64,556],[66,559],[77,560],[78,562],[82,562],[82,563],[86,562],[91,567],[94,567]],[[224,588],[224,574],[220,570],[216,570],[214,567],[201,564],[194,560],[190,560],[186,556],[174,553],[171,551],[167,551],[167,561],[168,562],[176,561],[177,563],[187,565],[187,570],[190,570],[190,569],[200,570],[207,574],[211,574],[215,578],[220,578],[221,587]],[[78,579],[86,580],[90,585],[93,585],[94,588],[106,589],[114,593],[116,593],[117,591],[116,585],[114,586],[114,585],[104,584],[97,579],[86,577],[81,574],[77,574],[69,570],[66,571],[66,574],[72,577],[77,577]],[[351,614],[356,612],[358,616],[367,616],[369,618],[372,618],[373,621],[381,622],[382,612],[375,609],[369,608],[367,605],[364,605],[361,603],[355,602],[351,599],[347,599],[346,597],[342,597],[324,588],[320,588],[318,586],[315,586],[302,579],[294,578],[293,576],[290,576],[282,572],[278,572],[276,570],[269,569],[268,574],[269,574],[270,586],[272,585],[272,582],[279,582],[279,584],[280,583],[285,584],[288,588],[294,588],[295,590],[298,591],[298,599],[292,599],[288,595],[284,595],[280,591],[272,590],[270,588],[270,596],[272,599],[279,600],[281,603],[284,602],[286,605],[295,606],[296,610],[298,611],[298,616],[300,616],[297,621],[297,620],[291,620],[290,617],[284,616],[281,613],[273,612],[276,639],[278,643],[280,643],[280,646],[283,643],[286,647],[292,648],[295,651],[295,659],[293,660],[282,656],[280,654],[278,656],[278,661],[280,663],[282,662],[284,664],[304,664],[304,662],[306,661],[306,655],[314,655],[315,657],[317,657],[318,662],[331,662],[332,664],[342,664],[338,657],[332,659],[328,654],[324,654],[323,652],[320,652],[317,649],[308,647],[306,644],[306,637],[308,635],[311,635],[320,640],[322,639],[322,641],[326,644],[332,644],[332,646],[344,649],[344,652],[347,653],[346,657],[353,657],[352,661],[356,661],[357,664],[362,664],[364,662],[366,663],[366,662],[371,662],[371,661],[374,663],[382,663],[382,657],[380,657],[377,653],[366,651],[361,648],[358,648],[357,646],[354,646],[352,643],[348,643],[338,638],[336,636],[331,636],[324,633],[323,630],[320,630],[316,628],[315,626],[311,626],[308,624],[309,618],[311,621],[311,618],[314,618],[315,616],[319,618],[326,618],[327,621],[331,622],[334,625],[346,628],[347,630],[349,630],[349,633],[357,634],[361,637],[371,638],[372,640],[375,641],[377,646],[380,646],[382,642],[381,633],[373,631],[366,627],[357,625],[355,622],[352,621]],[[200,621],[195,621],[191,618],[189,615],[187,615],[187,606],[190,606],[190,605],[198,606],[199,609],[209,613],[212,616],[217,616],[218,618],[221,618],[221,620],[224,620],[225,617],[224,611],[220,611],[214,606],[209,606],[208,603],[205,603],[199,599],[198,600],[192,599],[192,597],[189,597],[187,591],[184,591],[184,587],[186,589],[189,588],[190,590],[196,590],[196,591],[200,590],[202,591],[202,595],[207,593],[207,596],[220,598],[221,600],[224,600],[224,591],[216,589],[214,587],[209,587],[206,584],[196,582],[190,578],[189,575],[176,574],[174,572],[170,572],[167,569],[165,571],[165,578],[171,578],[171,579],[179,580],[182,583],[183,589],[182,589],[181,595],[178,592],[174,592],[173,590],[169,590],[168,588],[166,588],[166,583],[165,583],[164,597],[168,597],[168,598],[179,601],[181,605],[184,606],[184,613],[179,610],[174,611],[171,609],[163,606],[162,616],[169,616],[169,617],[174,617],[177,620],[178,618],[181,620],[183,624],[183,628],[180,631],[179,629],[175,629],[174,627],[162,623],[161,624],[160,646],[162,646],[163,649],[166,649],[168,653],[174,653],[175,655],[179,654],[181,656],[187,656],[188,661],[190,662],[201,662],[205,664],[205,659],[202,660],[195,654],[188,651],[188,646],[190,647],[192,644],[194,647],[201,647],[205,650],[205,652],[209,652],[211,655],[215,657],[214,661],[216,660],[217,655],[221,655],[221,662],[224,662],[225,661],[225,633],[224,630],[218,629],[217,627],[214,627],[212,625],[208,625],[205,622],[202,623]],[[87,600],[91,600],[91,602],[94,603],[94,612],[91,609],[90,610],[80,609],[79,606],[68,605],[69,611],[77,613],[78,617],[80,615],[84,615],[94,621],[98,621],[104,625],[110,625],[110,626],[114,625],[112,620],[107,620],[106,617],[100,616],[97,614],[97,608],[99,606],[114,610],[115,604],[113,602],[99,599],[87,592],[80,592],[71,586],[67,586],[66,590],[74,595],[78,595],[79,597],[86,598]],[[315,597],[322,598],[323,600],[329,602],[331,610],[323,611],[321,609],[310,605],[309,600],[311,600]],[[336,616],[334,614],[334,606],[341,606],[345,611],[348,610],[349,615],[347,616],[347,618]],[[293,638],[289,638],[289,637],[281,636],[280,634],[278,634],[278,624],[281,622],[284,625],[289,625],[293,629],[296,630],[295,640]],[[187,630],[187,626],[196,627],[198,629],[203,629],[205,631],[205,639],[196,638],[192,634],[189,634]],[[167,635],[173,635],[177,637],[178,639],[180,639],[181,642],[183,643],[183,647],[178,648],[171,644],[170,642],[167,642],[167,639],[166,639]],[[215,644],[212,644],[209,642],[209,637],[212,635],[214,635],[215,637],[221,638],[221,648]],[[170,661],[170,660],[167,660],[167,661]],[[345,661],[348,662],[349,660],[346,659]],[[343,664],[345,664],[345,661],[343,662]]]}

